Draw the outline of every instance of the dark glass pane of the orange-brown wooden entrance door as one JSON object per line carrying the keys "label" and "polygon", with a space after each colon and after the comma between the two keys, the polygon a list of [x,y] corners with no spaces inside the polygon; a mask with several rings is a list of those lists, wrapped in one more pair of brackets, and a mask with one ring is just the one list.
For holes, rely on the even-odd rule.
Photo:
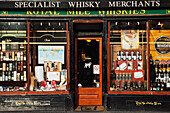
{"label": "dark glass pane of the orange-brown wooden entrance door", "polygon": [[99,66],[99,40],[77,41],[78,87],[99,87],[99,74],[93,66]]}

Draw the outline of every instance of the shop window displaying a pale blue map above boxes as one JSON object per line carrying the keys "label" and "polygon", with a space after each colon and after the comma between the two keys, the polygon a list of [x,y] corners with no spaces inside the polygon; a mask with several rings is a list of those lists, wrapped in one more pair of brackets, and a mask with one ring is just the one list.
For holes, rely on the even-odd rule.
{"label": "shop window displaying a pale blue map above boxes", "polygon": [[68,90],[68,24],[30,22],[30,91]]}

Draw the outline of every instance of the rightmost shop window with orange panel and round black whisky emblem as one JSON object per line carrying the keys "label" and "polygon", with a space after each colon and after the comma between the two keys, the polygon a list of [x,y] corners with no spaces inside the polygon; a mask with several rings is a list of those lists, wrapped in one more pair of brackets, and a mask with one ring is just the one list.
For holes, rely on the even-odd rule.
{"label": "rightmost shop window with orange panel and round black whisky emblem", "polygon": [[170,21],[150,21],[150,90],[170,91]]}

